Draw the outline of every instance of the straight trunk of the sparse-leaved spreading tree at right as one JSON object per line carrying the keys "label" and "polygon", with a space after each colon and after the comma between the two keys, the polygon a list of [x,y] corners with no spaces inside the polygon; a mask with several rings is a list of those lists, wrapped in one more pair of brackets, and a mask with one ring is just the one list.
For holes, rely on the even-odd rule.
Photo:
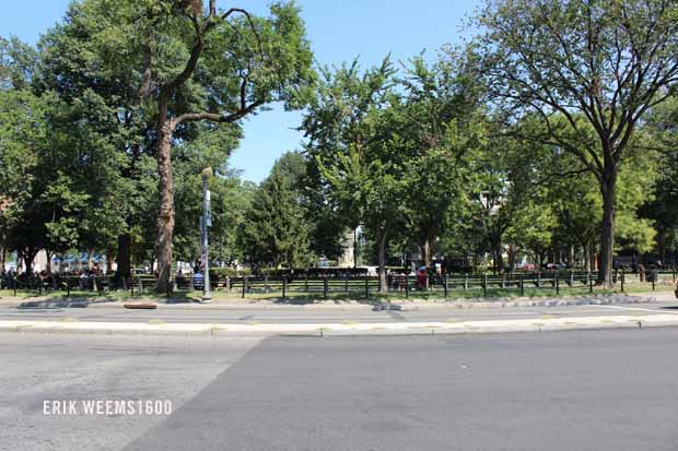
{"label": "straight trunk of the sparse-leaved spreading tree at right", "polygon": [[598,284],[610,288],[612,286],[612,253],[615,251],[615,195],[617,192],[617,173],[609,169],[601,185],[603,194],[603,224],[600,228],[600,266],[598,268]]}

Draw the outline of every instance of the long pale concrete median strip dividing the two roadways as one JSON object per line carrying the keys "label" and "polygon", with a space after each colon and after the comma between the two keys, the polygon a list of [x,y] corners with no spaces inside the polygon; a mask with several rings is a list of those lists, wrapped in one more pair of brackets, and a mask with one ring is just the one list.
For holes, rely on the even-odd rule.
{"label": "long pale concrete median strip dividing the two roadways", "polygon": [[388,323],[284,323],[284,324],[220,324],[80,322],[63,321],[0,321],[0,332],[98,333],[150,335],[440,335],[469,333],[549,332],[592,329],[639,329],[678,325],[678,314],[595,316],[576,318],[506,319],[449,322],[388,322]]}

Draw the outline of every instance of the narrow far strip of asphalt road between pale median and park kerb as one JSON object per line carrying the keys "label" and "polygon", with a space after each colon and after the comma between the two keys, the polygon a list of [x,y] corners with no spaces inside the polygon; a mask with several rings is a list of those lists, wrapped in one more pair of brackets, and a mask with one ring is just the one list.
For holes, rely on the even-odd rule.
{"label": "narrow far strip of asphalt road between pale median and park kerb", "polygon": [[418,322],[418,321],[477,321],[496,319],[531,319],[542,317],[595,317],[615,314],[678,314],[678,301],[627,304],[613,306],[582,305],[564,307],[455,308],[448,306],[412,307],[402,310],[375,311],[371,306],[347,308],[261,306],[219,308],[218,306],[165,307],[156,310],[128,310],[120,307],[89,308],[30,308],[0,307],[0,320],[78,320],[86,322],[165,322],[191,323],[341,323],[350,322]]}

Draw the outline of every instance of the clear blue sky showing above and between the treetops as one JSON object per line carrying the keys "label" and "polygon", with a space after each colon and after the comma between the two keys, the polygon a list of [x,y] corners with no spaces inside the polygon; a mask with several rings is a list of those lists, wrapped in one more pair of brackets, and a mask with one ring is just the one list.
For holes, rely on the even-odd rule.
{"label": "clear blue sky showing above and between the treetops", "polygon": [[[58,22],[70,0],[3,2],[0,34],[16,35],[35,43],[40,33]],[[269,0],[221,1],[258,14]],[[308,38],[322,64],[340,64],[360,57],[362,67],[378,63],[387,54],[395,60],[434,54],[444,44],[458,44],[459,25],[479,0],[297,0],[306,21]],[[299,149],[302,135],[294,130],[300,112],[280,108],[264,111],[245,122],[245,139],[231,157],[243,178],[261,181],[282,153]]]}

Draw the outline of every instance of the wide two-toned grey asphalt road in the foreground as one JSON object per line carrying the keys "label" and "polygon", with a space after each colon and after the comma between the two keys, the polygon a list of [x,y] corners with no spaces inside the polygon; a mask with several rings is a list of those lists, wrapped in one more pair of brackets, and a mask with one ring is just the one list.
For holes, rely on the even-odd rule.
{"label": "wide two-toned grey asphalt road in the foreground", "polygon": [[[0,343],[8,450],[678,449],[677,329]],[[43,414],[43,400],[83,397],[174,411]]]}

